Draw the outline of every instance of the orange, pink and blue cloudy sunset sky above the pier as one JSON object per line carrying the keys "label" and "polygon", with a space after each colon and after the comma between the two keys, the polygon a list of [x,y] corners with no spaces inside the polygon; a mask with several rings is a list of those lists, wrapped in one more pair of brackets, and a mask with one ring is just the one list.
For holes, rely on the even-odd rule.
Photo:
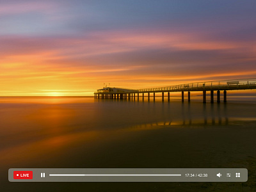
{"label": "orange, pink and blue cloudy sunset sky above the pier", "polygon": [[0,96],[256,77],[256,1],[0,1]]}

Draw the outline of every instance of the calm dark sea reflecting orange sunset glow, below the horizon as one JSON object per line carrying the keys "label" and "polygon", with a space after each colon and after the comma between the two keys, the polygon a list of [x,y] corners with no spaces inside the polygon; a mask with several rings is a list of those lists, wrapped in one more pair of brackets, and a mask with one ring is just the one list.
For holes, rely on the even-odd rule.
{"label": "calm dark sea reflecting orange sunset glow, below the horizon", "polygon": [[[220,104],[203,104],[202,97],[180,100],[0,97],[1,186],[5,191],[256,190],[256,97],[228,97]],[[249,180],[25,184],[8,182],[9,168],[248,168]]]}

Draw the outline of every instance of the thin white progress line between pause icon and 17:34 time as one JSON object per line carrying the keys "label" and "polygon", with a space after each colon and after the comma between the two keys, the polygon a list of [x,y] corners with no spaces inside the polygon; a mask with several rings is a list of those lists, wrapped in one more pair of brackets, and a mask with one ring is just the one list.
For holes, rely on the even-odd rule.
{"label": "thin white progress line between pause icon and 17:34 time", "polygon": [[123,176],[132,176],[132,177],[162,177],[162,176],[167,176],[167,177],[179,177],[181,174],[49,174],[50,177],[123,177]]}

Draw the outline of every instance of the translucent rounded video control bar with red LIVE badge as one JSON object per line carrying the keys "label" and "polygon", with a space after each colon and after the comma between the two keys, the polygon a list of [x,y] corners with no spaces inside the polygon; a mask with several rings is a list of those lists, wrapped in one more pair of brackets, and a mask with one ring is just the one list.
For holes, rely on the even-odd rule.
{"label": "translucent rounded video control bar with red LIVE badge", "polygon": [[246,182],[245,168],[10,168],[10,182]]}

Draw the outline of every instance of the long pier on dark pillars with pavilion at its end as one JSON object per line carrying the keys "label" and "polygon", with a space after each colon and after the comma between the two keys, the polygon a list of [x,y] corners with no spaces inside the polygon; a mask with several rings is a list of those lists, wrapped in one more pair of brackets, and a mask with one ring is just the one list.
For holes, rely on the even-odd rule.
{"label": "long pier on dark pillars with pavilion at its end", "polygon": [[[156,93],[162,93],[162,100],[167,97],[168,102],[170,102],[170,93],[180,92],[181,101],[184,102],[185,93],[188,95],[188,102],[190,102],[191,92],[202,92],[202,100],[205,103],[207,92],[210,93],[211,102],[214,102],[214,93],[216,93],[216,101],[221,102],[220,95],[223,93],[223,102],[227,102],[227,91],[228,90],[253,90],[256,89],[256,78],[253,79],[232,79],[223,81],[205,81],[198,83],[186,83],[179,84],[175,86],[164,86],[159,88],[143,88],[138,90],[131,90],[125,88],[111,88],[105,87],[97,90],[94,93],[95,99],[125,99],[125,100],[135,100],[137,95],[137,100],[140,96],[142,100],[147,97],[153,97],[156,99]],[[153,94],[150,94],[153,93]],[[164,93],[168,93],[167,96]]]}

